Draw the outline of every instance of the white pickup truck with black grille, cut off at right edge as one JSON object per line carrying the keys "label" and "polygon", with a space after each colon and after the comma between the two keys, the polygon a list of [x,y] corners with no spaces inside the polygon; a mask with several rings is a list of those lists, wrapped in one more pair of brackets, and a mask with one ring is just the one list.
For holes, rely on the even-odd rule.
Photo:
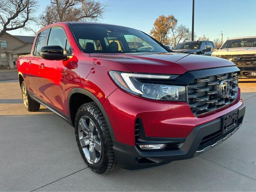
{"label": "white pickup truck with black grille, cut off at right edge", "polygon": [[256,36],[228,39],[212,56],[234,62],[240,78],[256,78]]}

